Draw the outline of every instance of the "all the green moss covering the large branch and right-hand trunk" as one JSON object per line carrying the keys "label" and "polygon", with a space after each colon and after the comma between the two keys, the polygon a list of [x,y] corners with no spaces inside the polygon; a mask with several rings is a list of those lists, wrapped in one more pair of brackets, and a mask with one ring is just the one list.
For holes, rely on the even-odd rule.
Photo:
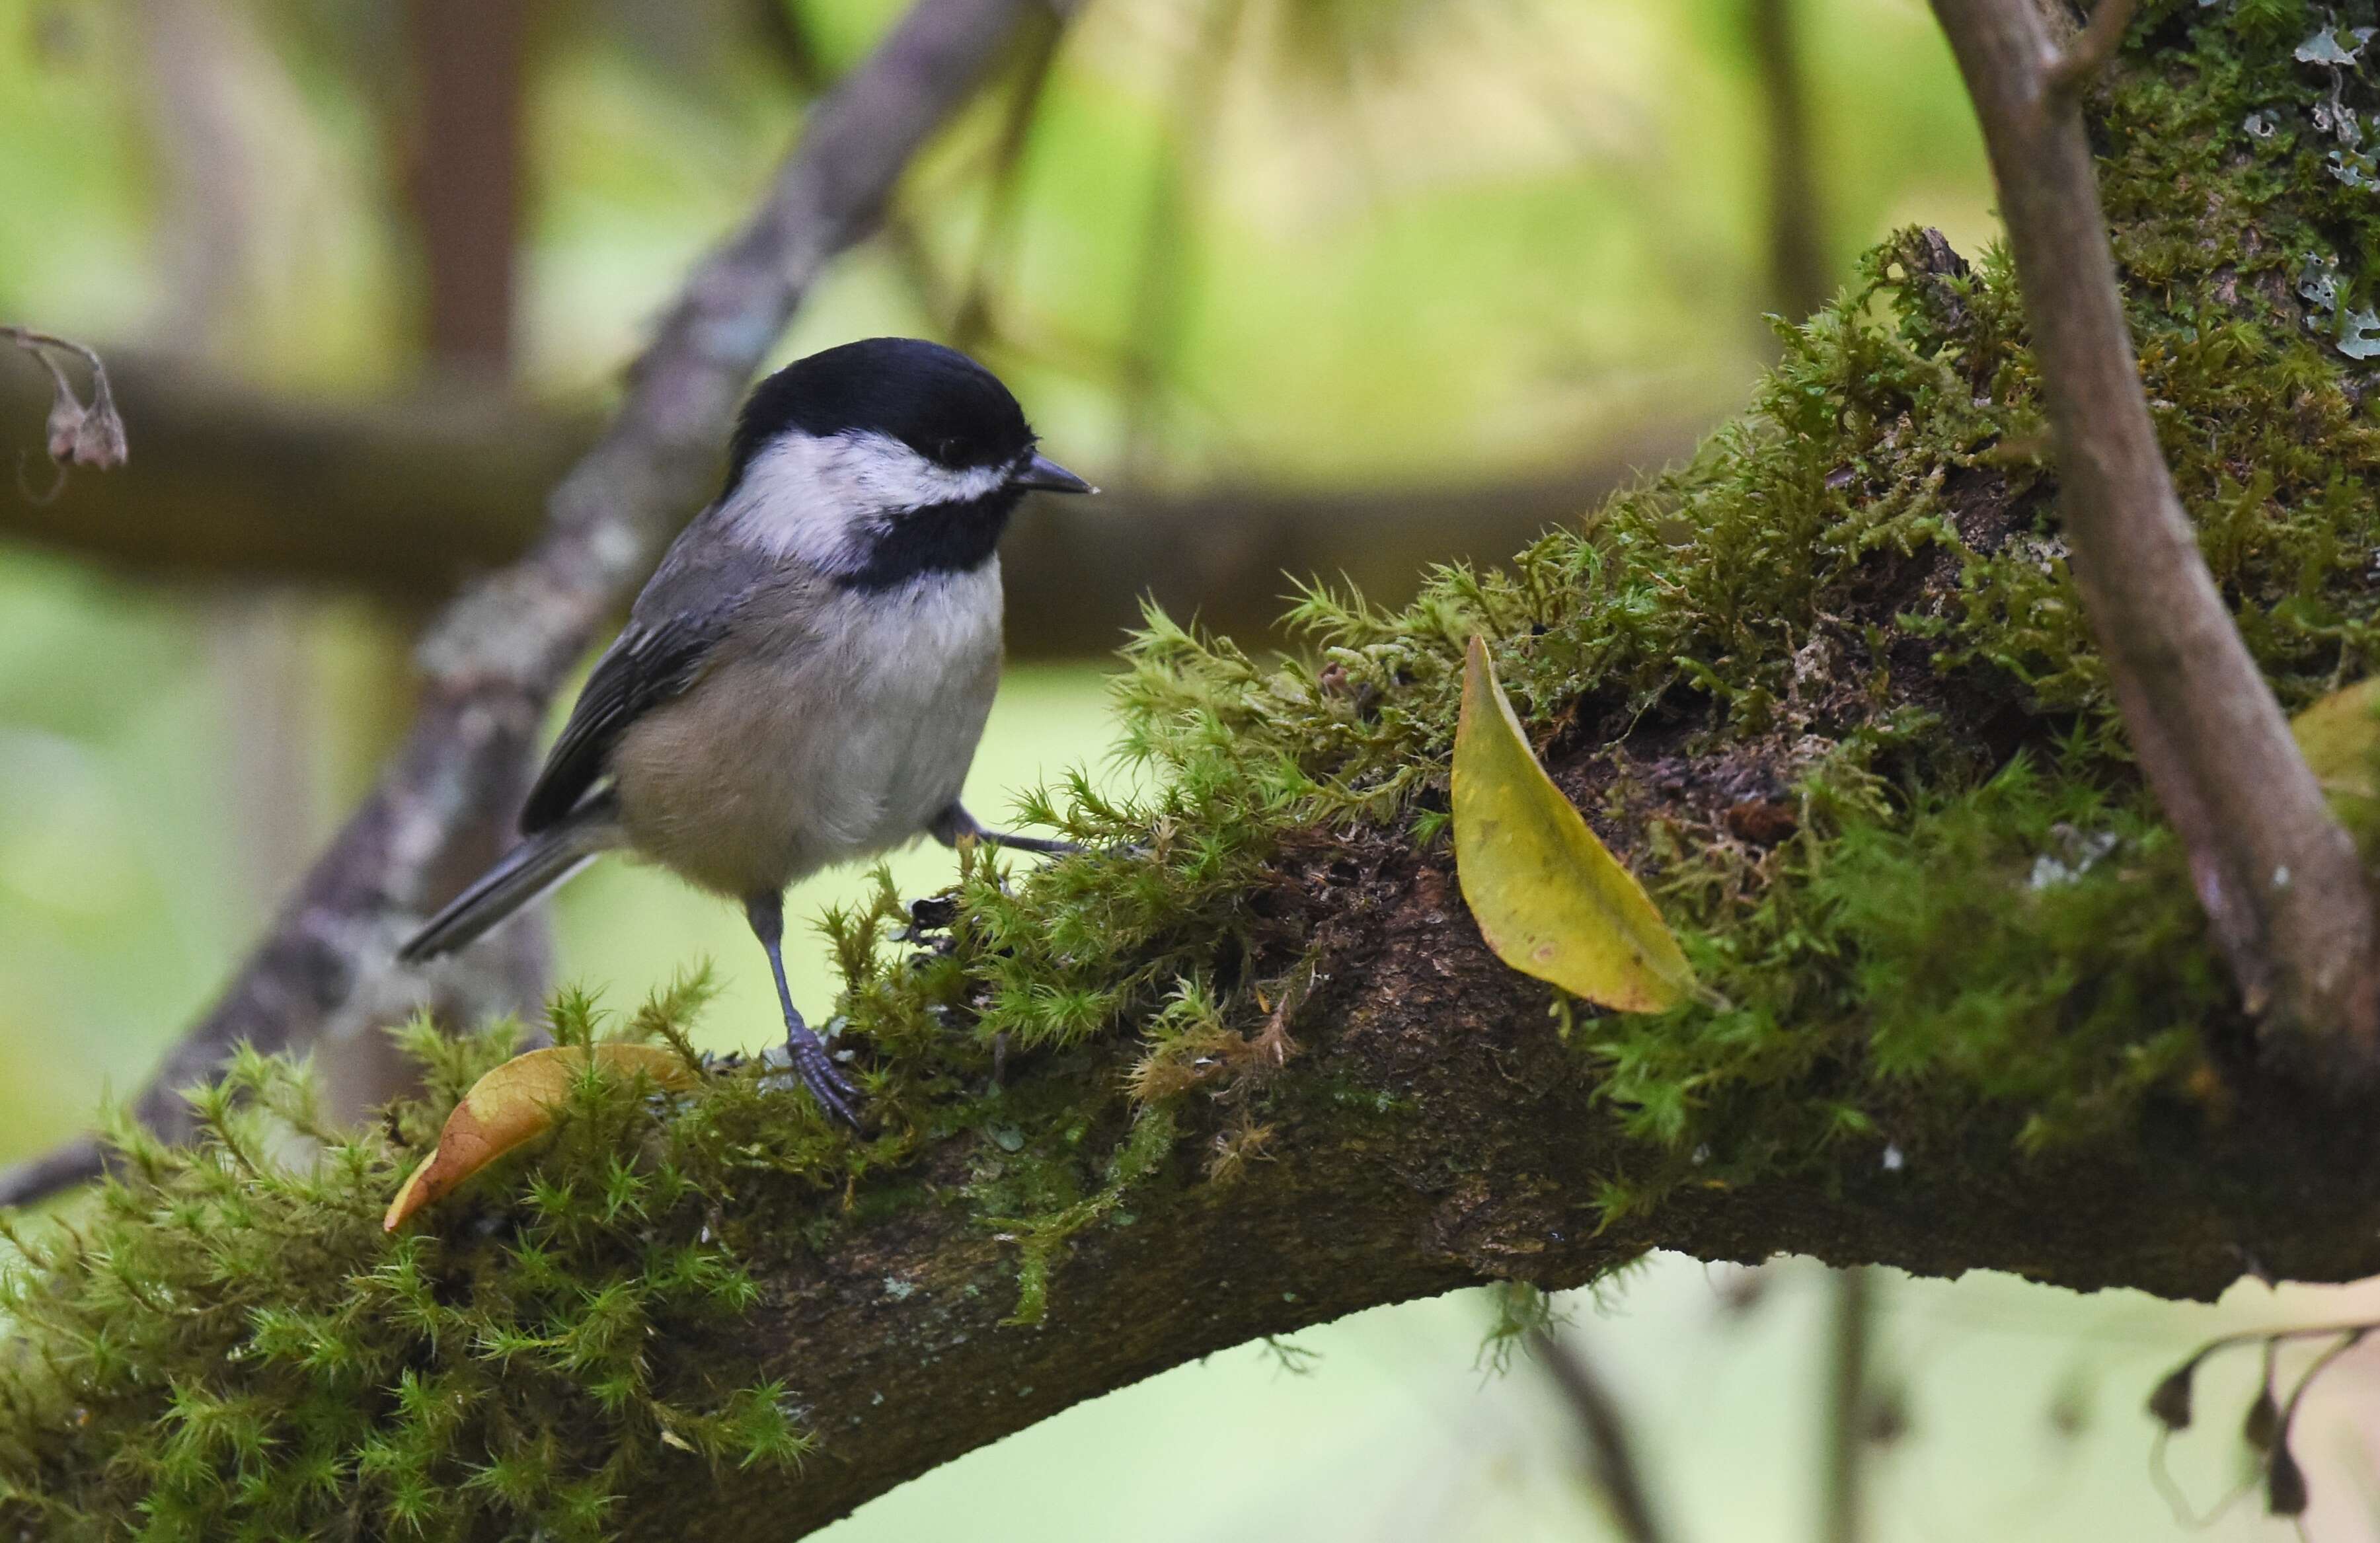
{"label": "all the green moss covering the large branch and right-hand trunk", "polygon": [[[2102,105],[2142,379],[2292,707],[2370,669],[2380,610],[2380,424],[2342,348],[2380,300],[2380,195],[2316,124],[2335,86],[2366,114],[2373,93],[2292,57],[2311,26],[2299,0],[2152,0],[2147,55]],[[121,1179],[19,1224],[5,1514],[43,1536],[300,1536],[350,1507],[374,1536],[597,1536],[676,1448],[797,1462],[778,1388],[702,1348],[788,1250],[959,1205],[1016,1248],[1033,1319],[1069,1238],[1228,1176],[1261,1150],[1266,1100],[1409,1119],[1345,1072],[1266,1081],[1314,969],[1276,864],[1366,862],[1380,831],[1442,860],[1471,633],[1726,998],[1573,1012],[1580,1076],[1637,1138],[1609,1214],[1847,1145],[2004,1141],[2021,1162],[2190,1095],[2237,1024],[2066,571],[2006,260],[1935,274],[1894,238],[1780,345],[1687,467],[1509,571],[1435,574],[1399,612],[1311,591],[1288,662],[1152,614],[1119,700],[1154,793],[1076,781],[1033,810],[1095,855],[1012,872],[971,852],[942,917],[885,886],[828,919],[866,1141],[750,1064],[683,1098],[588,1079],[552,1141],[383,1238],[502,1026],[412,1029],[428,1093],[357,1138],[257,1057],[198,1095],[195,1150],[126,1133]],[[1790,833],[1737,833],[1747,798]],[[700,995],[683,981],[616,1031],[683,1050]],[[552,1017],[564,1041],[605,1031],[583,995]],[[1004,1055],[1050,1074],[1002,1086]],[[1242,1083],[1238,1124],[1202,1176],[1171,1157],[1216,1076]],[[957,1198],[914,1172],[945,1141],[976,1152]],[[647,1331],[674,1353],[643,1355]]]}

